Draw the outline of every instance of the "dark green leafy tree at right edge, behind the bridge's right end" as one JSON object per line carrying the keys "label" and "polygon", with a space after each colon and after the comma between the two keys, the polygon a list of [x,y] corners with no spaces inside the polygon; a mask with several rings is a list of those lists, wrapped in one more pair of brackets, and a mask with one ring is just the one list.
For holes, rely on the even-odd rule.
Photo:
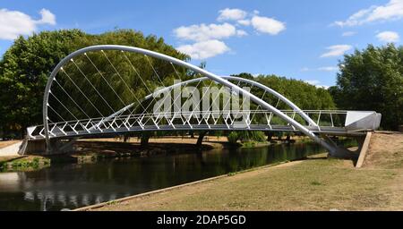
{"label": "dark green leafy tree at right edge, behind the bridge's right end", "polygon": [[403,123],[403,47],[369,45],[345,55],[337,86],[329,89],[341,109],[382,113],[382,128]]}

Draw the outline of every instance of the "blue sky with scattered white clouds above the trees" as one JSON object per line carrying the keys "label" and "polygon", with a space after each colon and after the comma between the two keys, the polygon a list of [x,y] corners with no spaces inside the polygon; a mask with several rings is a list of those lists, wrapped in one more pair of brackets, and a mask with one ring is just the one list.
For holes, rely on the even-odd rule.
{"label": "blue sky with scattered white clouds above the trees", "polygon": [[0,0],[0,55],[18,35],[116,28],[162,37],[218,75],[277,74],[329,87],[344,54],[401,45],[403,0]]}

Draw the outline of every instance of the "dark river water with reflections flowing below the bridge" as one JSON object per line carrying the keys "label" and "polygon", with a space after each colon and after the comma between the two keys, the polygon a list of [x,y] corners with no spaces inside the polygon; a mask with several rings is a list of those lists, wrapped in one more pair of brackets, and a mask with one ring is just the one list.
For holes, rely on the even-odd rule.
{"label": "dark river water with reflections flowing below the bridge", "polygon": [[56,164],[34,172],[0,173],[0,210],[79,208],[322,151],[313,143],[280,144],[106,159],[95,164]]}

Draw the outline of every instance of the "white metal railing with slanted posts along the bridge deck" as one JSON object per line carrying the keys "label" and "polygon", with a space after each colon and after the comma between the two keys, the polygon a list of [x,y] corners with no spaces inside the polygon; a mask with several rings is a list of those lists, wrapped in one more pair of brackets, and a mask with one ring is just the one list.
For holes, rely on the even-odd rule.
{"label": "white metal railing with slanted posts along the bridge deck", "polygon": [[[346,110],[282,110],[292,119],[303,123],[313,131],[345,131]],[[297,120],[297,114],[308,114],[317,126]],[[266,110],[191,111],[153,114],[125,114],[111,118],[91,118],[49,123],[50,138],[72,138],[93,133],[154,130],[261,130],[297,131],[292,125]],[[29,128],[30,140],[45,138],[44,126]]]}

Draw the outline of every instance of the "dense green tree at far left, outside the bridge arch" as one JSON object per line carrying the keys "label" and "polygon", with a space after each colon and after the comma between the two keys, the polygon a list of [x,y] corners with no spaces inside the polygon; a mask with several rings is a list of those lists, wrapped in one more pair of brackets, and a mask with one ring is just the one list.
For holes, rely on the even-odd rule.
{"label": "dense green tree at far left, outside the bridge arch", "polygon": [[53,67],[72,49],[81,30],[41,32],[20,36],[0,60],[0,128],[20,132],[40,122],[42,98]]}

